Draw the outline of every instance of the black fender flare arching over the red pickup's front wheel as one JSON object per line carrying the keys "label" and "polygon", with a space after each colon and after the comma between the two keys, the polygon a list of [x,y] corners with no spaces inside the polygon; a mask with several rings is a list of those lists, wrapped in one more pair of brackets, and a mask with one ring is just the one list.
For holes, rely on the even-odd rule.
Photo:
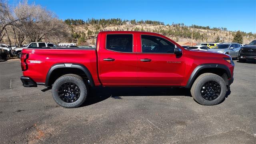
{"label": "black fender flare arching over the red pickup's front wheel", "polygon": [[191,86],[192,86],[192,84],[193,84],[193,82],[194,82],[198,72],[200,72],[200,70],[203,70],[205,68],[220,68],[220,69],[224,69],[226,74],[227,74],[227,76],[228,76],[228,78],[232,77],[230,69],[228,68],[228,66],[226,66],[224,64],[200,64],[191,73],[185,88],[191,88]]}

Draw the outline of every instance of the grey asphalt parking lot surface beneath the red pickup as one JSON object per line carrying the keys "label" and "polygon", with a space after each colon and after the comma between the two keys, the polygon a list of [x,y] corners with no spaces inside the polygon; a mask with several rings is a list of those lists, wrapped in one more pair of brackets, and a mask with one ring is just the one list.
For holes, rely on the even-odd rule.
{"label": "grey asphalt parking lot surface beneath the red pickup", "polygon": [[44,86],[24,88],[18,59],[0,62],[1,143],[255,144],[256,64],[234,60],[234,83],[216,106],[180,88],[92,88],[80,108]]}

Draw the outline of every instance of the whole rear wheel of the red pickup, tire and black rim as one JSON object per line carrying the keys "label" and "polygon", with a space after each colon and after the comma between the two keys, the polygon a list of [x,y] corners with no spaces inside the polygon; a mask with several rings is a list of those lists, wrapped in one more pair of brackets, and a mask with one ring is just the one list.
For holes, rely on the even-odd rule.
{"label": "whole rear wheel of the red pickup, tire and black rim", "polygon": [[52,85],[52,97],[64,108],[77,108],[86,100],[88,90],[81,76],[66,74]]}

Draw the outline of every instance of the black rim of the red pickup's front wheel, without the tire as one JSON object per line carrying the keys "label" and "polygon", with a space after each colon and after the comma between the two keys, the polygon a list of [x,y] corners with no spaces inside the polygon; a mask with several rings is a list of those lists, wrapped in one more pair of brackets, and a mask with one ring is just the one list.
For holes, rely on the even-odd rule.
{"label": "black rim of the red pickup's front wheel, without the tire", "polygon": [[201,96],[205,100],[215,100],[220,96],[221,88],[220,84],[215,81],[208,81],[203,84],[201,88]]}

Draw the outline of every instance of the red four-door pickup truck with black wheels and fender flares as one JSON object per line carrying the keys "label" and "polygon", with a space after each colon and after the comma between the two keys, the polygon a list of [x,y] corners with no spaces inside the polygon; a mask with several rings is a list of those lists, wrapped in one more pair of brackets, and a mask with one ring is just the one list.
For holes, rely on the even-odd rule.
{"label": "red four-door pickup truck with black wheels and fender flares", "polygon": [[90,86],[190,88],[198,103],[215,105],[233,82],[234,62],[226,54],[186,50],[151,32],[100,32],[96,48],[22,50],[23,86],[52,89],[56,103],[80,106]]}

